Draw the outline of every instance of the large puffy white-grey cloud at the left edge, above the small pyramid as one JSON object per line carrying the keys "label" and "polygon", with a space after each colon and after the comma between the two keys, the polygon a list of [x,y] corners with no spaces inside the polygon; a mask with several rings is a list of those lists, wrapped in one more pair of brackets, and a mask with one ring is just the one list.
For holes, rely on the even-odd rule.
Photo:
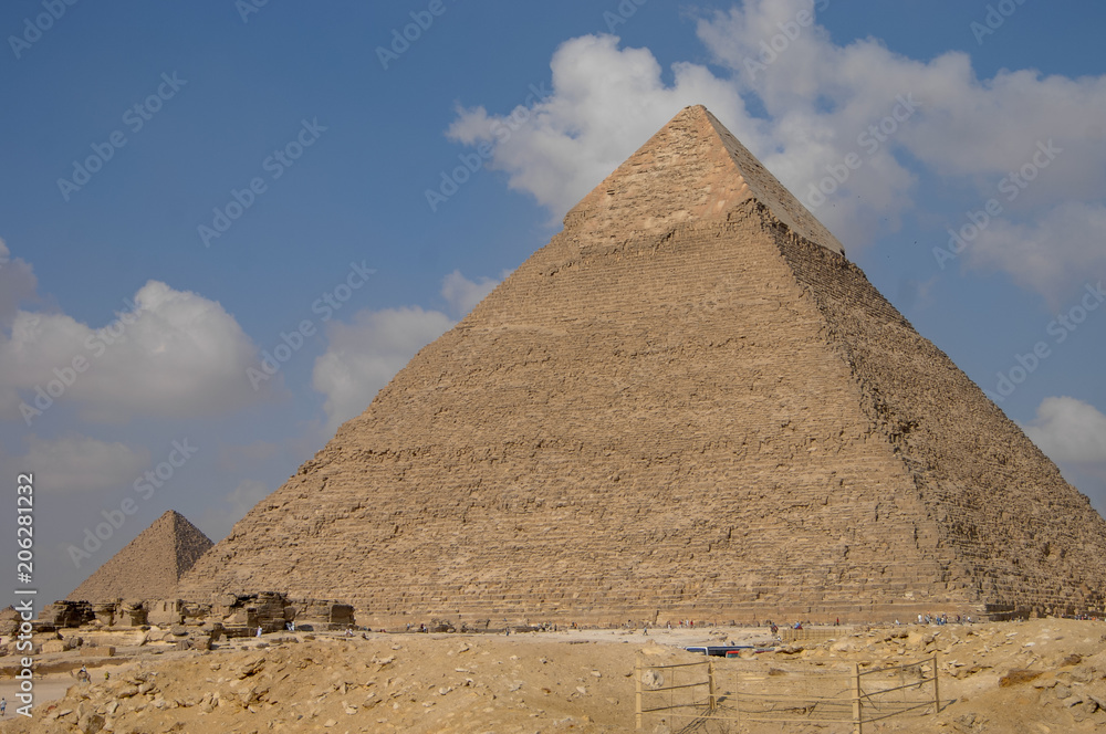
{"label": "large puffy white-grey cloud at the left edge, above the small pyramid", "polygon": [[98,328],[20,311],[0,335],[0,415],[33,424],[50,400],[94,422],[221,413],[260,399],[246,379],[255,354],[219,303],[158,281]]}

